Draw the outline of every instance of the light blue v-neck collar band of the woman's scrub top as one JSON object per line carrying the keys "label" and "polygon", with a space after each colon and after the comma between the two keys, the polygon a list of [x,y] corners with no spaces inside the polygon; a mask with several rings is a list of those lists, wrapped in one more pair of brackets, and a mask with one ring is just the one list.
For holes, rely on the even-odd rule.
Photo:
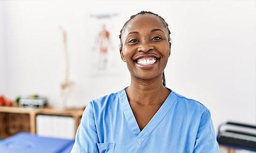
{"label": "light blue v-neck collar band of the woman's scrub top", "polygon": [[[167,88],[168,89],[168,88]],[[169,89],[170,90],[170,89]],[[172,108],[173,104],[175,103],[175,95],[172,90],[165,99],[162,106],[159,108],[159,110],[156,112],[156,114],[152,117],[150,122],[146,124],[144,129],[140,131],[139,125],[135,119],[135,116],[133,114],[132,108],[129,104],[125,89],[121,90],[118,93],[118,96],[120,98],[122,111],[127,119],[127,123],[129,124],[135,138],[137,139],[139,145],[141,145],[144,140],[154,131],[154,129],[157,127],[157,125],[162,121],[162,119],[165,117],[165,115],[168,113],[170,108]]]}

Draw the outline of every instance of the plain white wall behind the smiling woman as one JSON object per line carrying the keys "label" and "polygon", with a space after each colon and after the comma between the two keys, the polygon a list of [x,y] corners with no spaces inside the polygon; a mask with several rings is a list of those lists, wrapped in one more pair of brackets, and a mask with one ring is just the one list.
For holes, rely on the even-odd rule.
{"label": "plain white wall behind the smiling woman", "polygon": [[[118,75],[90,77],[92,13],[119,13],[115,39],[125,20],[151,10],[170,24],[172,55],[167,86],[199,100],[212,114],[215,127],[234,120],[256,123],[255,1],[9,1],[0,14],[5,22],[7,90],[11,98],[40,93],[59,103],[64,61],[58,25],[68,30],[71,79],[76,83],[69,106],[120,90],[130,83],[123,62]],[[125,7],[124,7],[125,6]],[[1,30],[1,29],[0,29]],[[3,30],[3,29],[2,29]],[[1,32],[0,32],[1,33]],[[116,54],[119,51],[116,50]],[[2,54],[1,54],[2,55]]]}

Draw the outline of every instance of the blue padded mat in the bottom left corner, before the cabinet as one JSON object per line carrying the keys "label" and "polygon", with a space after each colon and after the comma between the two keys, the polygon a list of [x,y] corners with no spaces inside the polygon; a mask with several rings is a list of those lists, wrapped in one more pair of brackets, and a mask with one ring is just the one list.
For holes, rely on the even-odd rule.
{"label": "blue padded mat in the bottom left corner, before the cabinet", "polygon": [[70,152],[74,140],[39,137],[28,133],[18,133],[0,142],[0,152],[4,153],[63,153]]}

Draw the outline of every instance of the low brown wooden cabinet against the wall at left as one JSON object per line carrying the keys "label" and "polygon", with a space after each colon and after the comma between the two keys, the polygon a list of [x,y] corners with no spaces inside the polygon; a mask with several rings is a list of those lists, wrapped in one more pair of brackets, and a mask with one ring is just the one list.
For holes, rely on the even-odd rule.
{"label": "low brown wooden cabinet against the wall at left", "polygon": [[[7,138],[18,132],[36,132],[36,116],[50,115],[61,117],[72,117],[74,119],[74,135],[80,123],[83,108],[22,108],[22,107],[0,107],[0,139]],[[49,123],[50,124],[50,123]],[[59,127],[61,128],[61,127]]]}

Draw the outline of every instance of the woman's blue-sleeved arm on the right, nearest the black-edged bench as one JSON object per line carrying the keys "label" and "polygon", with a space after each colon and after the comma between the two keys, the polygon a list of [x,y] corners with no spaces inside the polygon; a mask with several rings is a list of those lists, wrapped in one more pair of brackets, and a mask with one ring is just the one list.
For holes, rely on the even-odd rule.
{"label": "woman's blue-sleeved arm on the right, nearest the black-edged bench", "polygon": [[201,117],[193,152],[220,152],[208,109]]}

